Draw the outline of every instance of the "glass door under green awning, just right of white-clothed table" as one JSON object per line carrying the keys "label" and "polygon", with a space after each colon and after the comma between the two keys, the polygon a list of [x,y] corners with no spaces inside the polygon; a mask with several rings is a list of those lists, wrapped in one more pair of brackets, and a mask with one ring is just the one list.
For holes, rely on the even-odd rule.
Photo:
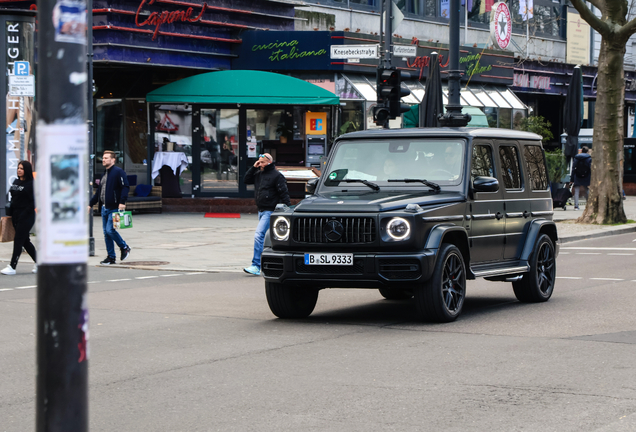
{"label": "glass door under green awning, just right of white-clothed table", "polygon": [[200,110],[199,194],[239,192],[239,110]]}

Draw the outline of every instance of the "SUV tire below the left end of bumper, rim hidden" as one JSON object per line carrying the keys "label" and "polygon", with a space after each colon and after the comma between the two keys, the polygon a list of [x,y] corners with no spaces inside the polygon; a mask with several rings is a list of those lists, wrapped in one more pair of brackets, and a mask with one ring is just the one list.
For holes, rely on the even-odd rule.
{"label": "SUV tire below the left end of bumper, rim hidden", "polygon": [[316,307],[318,289],[265,282],[267,303],[278,318],[306,318]]}

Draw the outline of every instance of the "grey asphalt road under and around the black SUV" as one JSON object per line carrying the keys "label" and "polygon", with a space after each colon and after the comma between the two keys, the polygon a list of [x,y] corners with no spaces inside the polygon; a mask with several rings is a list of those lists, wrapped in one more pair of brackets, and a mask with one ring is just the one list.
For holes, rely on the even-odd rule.
{"label": "grey asphalt road under and around the black SUV", "polygon": [[[469,281],[421,324],[375,290],[275,319],[241,273],[91,267],[91,431],[636,431],[636,235],[569,243],[548,303]],[[0,278],[0,431],[34,430],[35,277]]]}

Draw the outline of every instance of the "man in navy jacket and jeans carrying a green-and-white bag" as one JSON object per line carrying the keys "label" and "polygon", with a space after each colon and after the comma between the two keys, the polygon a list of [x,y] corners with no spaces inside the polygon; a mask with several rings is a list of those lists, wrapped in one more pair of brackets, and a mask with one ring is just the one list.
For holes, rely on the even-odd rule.
{"label": "man in navy jacket and jeans carrying a green-and-white bag", "polygon": [[106,242],[106,251],[108,256],[100,264],[115,264],[117,255],[115,254],[115,246],[117,243],[121,250],[120,260],[124,261],[130,256],[130,247],[121,238],[117,230],[113,227],[113,213],[124,211],[126,209],[126,200],[128,199],[128,176],[126,172],[115,166],[115,152],[106,150],[102,158],[102,165],[106,168],[102,180],[99,182],[97,192],[91,198],[89,210],[95,203],[99,202],[102,210],[102,226],[104,227],[104,241]]}

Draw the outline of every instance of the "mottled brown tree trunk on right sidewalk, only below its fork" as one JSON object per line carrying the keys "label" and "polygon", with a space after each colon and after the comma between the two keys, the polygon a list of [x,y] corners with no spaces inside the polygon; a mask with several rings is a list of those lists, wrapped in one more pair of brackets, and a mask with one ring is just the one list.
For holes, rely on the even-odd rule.
{"label": "mottled brown tree trunk on right sidewalk, only below its fork", "polygon": [[594,113],[592,179],[579,223],[625,223],[620,170],[623,157],[625,44],[603,36],[598,59],[598,87]]}

